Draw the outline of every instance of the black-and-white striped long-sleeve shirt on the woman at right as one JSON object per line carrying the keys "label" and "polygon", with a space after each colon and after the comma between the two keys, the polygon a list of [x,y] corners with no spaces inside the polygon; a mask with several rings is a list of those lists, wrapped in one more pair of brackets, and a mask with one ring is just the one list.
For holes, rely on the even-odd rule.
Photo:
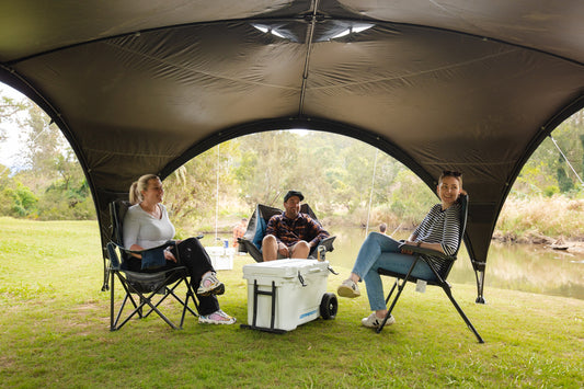
{"label": "black-and-white striped long-sleeve shirt on the woman at right", "polygon": [[416,241],[440,243],[447,255],[453,255],[460,244],[460,204],[453,204],[446,210],[436,204],[414,231]]}

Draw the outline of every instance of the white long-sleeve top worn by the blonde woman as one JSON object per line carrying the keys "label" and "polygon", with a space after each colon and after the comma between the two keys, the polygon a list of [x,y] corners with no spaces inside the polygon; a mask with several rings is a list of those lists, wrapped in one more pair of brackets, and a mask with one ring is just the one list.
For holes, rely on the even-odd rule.
{"label": "white long-sleeve top worn by the blonde woman", "polygon": [[124,247],[129,249],[138,244],[144,249],[151,249],[164,244],[176,232],[169,219],[167,207],[158,204],[162,216],[157,219],[144,210],[139,204],[128,208],[124,217]]}

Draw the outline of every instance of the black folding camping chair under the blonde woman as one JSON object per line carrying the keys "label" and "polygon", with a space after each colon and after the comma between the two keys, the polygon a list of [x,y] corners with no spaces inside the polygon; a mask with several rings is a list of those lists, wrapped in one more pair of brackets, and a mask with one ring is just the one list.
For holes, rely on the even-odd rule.
{"label": "black folding camping chair under the blonde woman", "polygon": [[[138,314],[138,317],[141,319],[148,317],[151,312],[156,312],[171,328],[182,329],[186,311],[191,312],[194,317],[197,317],[197,313],[188,306],[188,301],[191,299],[198,310],[195,294],[187,279],[187,270],[184,266],[178,266],[156,273],[134,272],[128,270],[127,259],[131,253],[141,254],[144,260],[147,256],[153,258],[157,255],[164,255],[165,248],[169,245],[175,245],[175,242],[169,241],[158,248],[144,251],[130,251],[125,249],[123,247],[124,239],[122,236],[122,222],[129,205],[130,204],[125,201],[115,201],[110,204],[110,215],[112,217],[112,241],[107,243],[107,256],[110,259],[108,272],[112,284],[110,302],[110,330],[119,330],[136,314]],[[178,260],[180,261],[180,259]],[[114,284],[116,277],[124,287],[125,296],[114,319]],[[181,299],[175,293],[176,287],[183,282],[186,285],[186,298],[184,300]],[[134,295],[136,295],[136,297]],[[176,327],[159,309],[159,306],[169,296],[172,296],[183,307],[179,327]],[[134,309],[126,314],[122,322],[119,322],[128,301],[131,304]],[[149,308],[146,313],[144,312],[145,307]]]}

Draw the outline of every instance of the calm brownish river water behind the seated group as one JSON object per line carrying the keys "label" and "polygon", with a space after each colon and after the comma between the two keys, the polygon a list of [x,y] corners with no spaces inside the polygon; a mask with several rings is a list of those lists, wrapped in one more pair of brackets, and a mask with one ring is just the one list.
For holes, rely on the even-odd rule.
{"label": "calm brownish river water behind the seated group", "polygon": [[[351,268],[365,239],[365,230],[335,228],[334,251],[327,254],[331,265]],[[405,231],[397,239],[409,236]],[[219,234],[220,238],[230,238]],[[214,237],[213,237],[214,238]],[[211,244],[206,236],[204,244]],[[465,248],[461,248],[448,281],[455,284],[476,285],[474,272]],[[546,249],[537,244],[503,244],[493,242],[486,259],[484,297],[489,300],[489,287],[530,291],[543,295],[584,299],[584,255]]]}

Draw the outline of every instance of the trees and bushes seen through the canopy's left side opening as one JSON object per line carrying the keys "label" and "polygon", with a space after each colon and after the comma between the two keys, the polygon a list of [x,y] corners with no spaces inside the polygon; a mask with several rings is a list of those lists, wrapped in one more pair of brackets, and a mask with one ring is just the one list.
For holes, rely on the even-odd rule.
{"label": "trees and bushes seen through the canopy's left side opening", "polygon": [[[84,174],[59,128],[36,105],[22,103],[11,113],[26,144],[26,167],[2,169],[1,215],[39,219],[92,219],[95,206]],[[4,110],[5,112],[5,110]]]}

